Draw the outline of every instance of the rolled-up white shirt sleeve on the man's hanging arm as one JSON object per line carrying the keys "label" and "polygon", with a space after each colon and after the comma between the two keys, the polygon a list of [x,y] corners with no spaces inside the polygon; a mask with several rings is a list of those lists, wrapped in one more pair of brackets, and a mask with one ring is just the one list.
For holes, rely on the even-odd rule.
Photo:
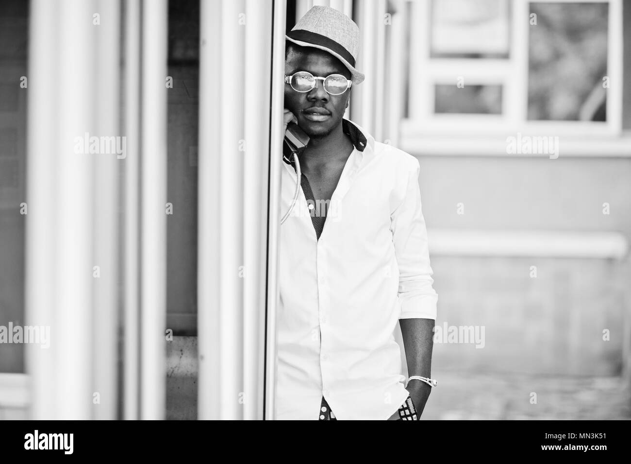
{"label": "rolled-up white shirt sleeve on the man's hanging arm", "polygon": [[[420,164],[408,155],[401,184],[406,186],[403,199],[392,212],[392,240],[399,266],[399,319],[436,319],[438,295],[432,287],[432,267],[427,242],[427,229],[421,211],[418,185]],[[406,160],[406,161],[408,161]]]}

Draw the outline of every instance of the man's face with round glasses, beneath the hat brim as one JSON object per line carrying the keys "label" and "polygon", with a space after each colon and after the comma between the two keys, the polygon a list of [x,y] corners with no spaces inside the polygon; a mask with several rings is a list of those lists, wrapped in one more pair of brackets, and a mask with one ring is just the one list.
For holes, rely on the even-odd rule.
{"label": "man's face with round glasses, beneath the hat brim", "polygon": [[[298,71],[309,71],[315,77],[342,74],[351,78],[348,68],[333,55],[314,48],[308,52],[291,50],[285,60],[285,75]],[[341,95],[329,95],[322,87],[324,81],[316,80],[309,92],[296,92],[285,84],[285,108],[298,118],[298,126],[310,137],[326,137],[341,124],[350,97],[350,89]],[[317,114],[314,114],[317,113]]]}

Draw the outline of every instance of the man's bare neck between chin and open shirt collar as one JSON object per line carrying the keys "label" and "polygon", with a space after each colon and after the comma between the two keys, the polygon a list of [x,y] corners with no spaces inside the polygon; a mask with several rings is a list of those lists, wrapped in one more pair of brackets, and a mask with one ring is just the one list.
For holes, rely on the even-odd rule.
{"label": "man's bare neck between chin and open shirt collar", "polygon": [[300,157],[305,171],[321,170],[327,165],[346,161],[353,152],[353,143],[342,130],[342,124],[323,138],[311,138]]}

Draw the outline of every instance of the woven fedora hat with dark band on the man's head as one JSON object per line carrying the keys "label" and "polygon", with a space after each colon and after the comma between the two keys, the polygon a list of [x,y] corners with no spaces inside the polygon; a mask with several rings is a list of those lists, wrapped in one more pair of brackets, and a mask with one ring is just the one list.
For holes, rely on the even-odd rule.
{"label": "woven fedora hat with dark band on the man's head", "polygon": [[353,85],[363,81],[363,73],[355,69],[359,52],[359,28],[341,11],[328,6],[314,6],[298,20],[285,38],[303,47],[329,52],[351,71]]}

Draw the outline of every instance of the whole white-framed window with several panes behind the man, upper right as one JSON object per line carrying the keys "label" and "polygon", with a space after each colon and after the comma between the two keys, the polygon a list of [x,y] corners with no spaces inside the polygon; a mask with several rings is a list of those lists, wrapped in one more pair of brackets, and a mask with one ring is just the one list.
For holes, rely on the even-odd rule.
{"label": "whole white-framed window with several panes behind the man, upper right", "polygon": [[577,138],[622,134],[620,0],[414,1],[410,25],[405,150],[480,154],[485,138],[506,154],[495,142],[517,132],[581,150]]}

